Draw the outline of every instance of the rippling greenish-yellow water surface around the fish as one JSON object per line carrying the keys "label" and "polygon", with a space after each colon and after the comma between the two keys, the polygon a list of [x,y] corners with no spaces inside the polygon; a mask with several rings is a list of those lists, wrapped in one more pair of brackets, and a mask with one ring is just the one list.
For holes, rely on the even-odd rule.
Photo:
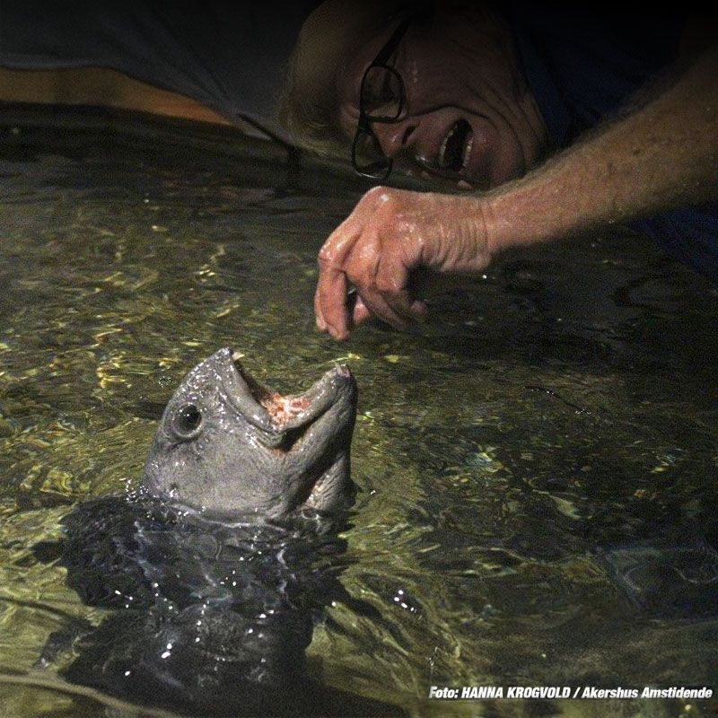
{"label": "rippling greenish-yellow water surface around the fish", "polygon": [[710,561],[661,574],[679,595],[705,582],[701,620],[624,580],[670,527],[715,547],[718,294],[702,279],[616,229],[428,287],[425,327],[337,345],[311,296],[363,189],[347,176],[224,130],[21,109],[0,114],[0,176],[3,714],[116,705],[58,677],[69,652],[33,668],[50,635],[107,612],[32,547],[74,502],[136,486],[171,390],[227,345],[279,390],[337,359],[360,386],[341,582],[376,611],[328,609],[313,679],[419,716],[686,703],[430,703],[431,685],[714,685]]}

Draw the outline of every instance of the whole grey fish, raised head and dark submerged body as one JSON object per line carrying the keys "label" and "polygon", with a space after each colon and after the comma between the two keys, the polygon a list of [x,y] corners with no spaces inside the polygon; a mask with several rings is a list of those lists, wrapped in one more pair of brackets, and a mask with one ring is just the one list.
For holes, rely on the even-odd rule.
{"label": "whole grey fish, raised head and dark submerged body", "polygon": [[75,636],[64,678],[183,714],[401,714],[305,670],[324,607],[359,605],[339,581],[338,537],[355,495],[356,399],[342,366],[294,397],[229,348],[192,369],[136,492],[63,520],[68,585],[112,609]]}

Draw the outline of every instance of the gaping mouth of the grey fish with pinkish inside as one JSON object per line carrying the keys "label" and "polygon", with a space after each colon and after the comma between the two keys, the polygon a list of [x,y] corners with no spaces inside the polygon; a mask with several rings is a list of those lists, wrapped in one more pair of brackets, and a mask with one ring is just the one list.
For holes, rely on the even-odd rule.
{"label": "gaping mouth of the grey fish with pinkish inside", "polygon": [[231,355],[236,381],[229,398],[270,448],[292,451],[320,416],[342,399],[355,398],[354,377],[346,365],[337,364],[301,394],[283,396],[252,377],[240,358],[237,352]]}

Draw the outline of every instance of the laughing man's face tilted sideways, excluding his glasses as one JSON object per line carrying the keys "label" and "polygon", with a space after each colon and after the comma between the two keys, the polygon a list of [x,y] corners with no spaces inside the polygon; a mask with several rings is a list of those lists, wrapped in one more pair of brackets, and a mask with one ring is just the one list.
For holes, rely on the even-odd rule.
{"label": "laughing man's face tilted sideways, excluding his glasses", "polygon": [[[339,123],[349,138],[359,119],[364,70],[396,24],[349,48],[337,71]],[[486,189],[521,176],[545,152],[543,118],[511,34],[493,15],[472,7],[416,20],[388,65],[403,78],[407,111],[400,121],[372,123],[372,129],[398,171]]]}

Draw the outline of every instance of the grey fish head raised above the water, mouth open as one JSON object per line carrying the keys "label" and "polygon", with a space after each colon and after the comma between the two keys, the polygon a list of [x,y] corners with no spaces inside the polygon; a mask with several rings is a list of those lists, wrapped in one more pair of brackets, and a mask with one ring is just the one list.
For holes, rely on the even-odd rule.
{"label": "grey fish head raised above the water, mouth open", "polygon": [[143,487],[220,518],[341,512],[354,498],[349,446],[356,398],[346,366],[283,397],[223,348],[188,372],[170,399]]}

